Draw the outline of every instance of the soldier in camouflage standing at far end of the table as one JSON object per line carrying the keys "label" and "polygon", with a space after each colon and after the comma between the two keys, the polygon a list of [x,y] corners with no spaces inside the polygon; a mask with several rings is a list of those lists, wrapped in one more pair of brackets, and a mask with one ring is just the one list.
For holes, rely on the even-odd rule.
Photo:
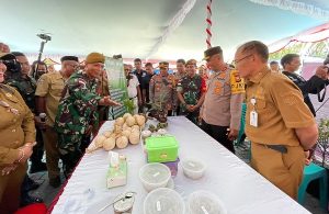
{"label": "soldier in camouflage standing at far end of the table", "polygon": [[181,115],[197,125],[200,108],[204,101],[205,82],[204,79],[196,75],[196,64],[194,59],[186,63],[188,74],[183,77],[177,87],[178,98],[181,105]]}

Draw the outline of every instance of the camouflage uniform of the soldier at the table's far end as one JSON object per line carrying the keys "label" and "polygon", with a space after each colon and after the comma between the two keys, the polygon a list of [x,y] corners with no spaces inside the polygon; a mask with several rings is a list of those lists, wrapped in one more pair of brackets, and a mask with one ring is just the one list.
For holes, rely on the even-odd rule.
{"label": "camouflage uniform of the soldier at the table's far end", "polygon": [[194,77],[185,76],[183,77],[177,87],[177,91],[182,93],[185,103],[180,104],[180,110],[182,115],[186,115],[186,117],[192,121],[194,124],[197,124],[197,117],[200,114],[200,109],[195,110],[194,112],[189,112],[186,110],[188,105],[196,105],[198,100],[202,97],[202,93],[205,92],[205,82],[204,79],[198,76],[194,75]]}

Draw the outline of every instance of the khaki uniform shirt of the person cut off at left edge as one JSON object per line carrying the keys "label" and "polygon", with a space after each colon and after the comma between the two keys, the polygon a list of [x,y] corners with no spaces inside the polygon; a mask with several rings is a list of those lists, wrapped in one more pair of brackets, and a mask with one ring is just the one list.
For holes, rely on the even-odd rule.
{"label": "khaki uniform shirt of the person cut off at left edge", "polygon": [[21,94],[0,83],[0,167],[13,164],[19,147],[35,142],[34,115]]}

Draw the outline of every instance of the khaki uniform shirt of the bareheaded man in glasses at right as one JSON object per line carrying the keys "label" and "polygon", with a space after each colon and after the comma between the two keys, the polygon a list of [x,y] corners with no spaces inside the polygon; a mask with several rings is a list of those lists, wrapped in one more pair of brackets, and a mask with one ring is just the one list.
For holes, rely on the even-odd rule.
{"label": "khaki uniform shirt of the bareheaded man in glasses at right", "polygon": [[[258,127],[250,125],[252,110],[258,113]],[[283,75],[265,67],[247,81],[246,134],[251,142],[298,146],[295,128],[314,124],[315,119],[304,103],[300,90]]]}

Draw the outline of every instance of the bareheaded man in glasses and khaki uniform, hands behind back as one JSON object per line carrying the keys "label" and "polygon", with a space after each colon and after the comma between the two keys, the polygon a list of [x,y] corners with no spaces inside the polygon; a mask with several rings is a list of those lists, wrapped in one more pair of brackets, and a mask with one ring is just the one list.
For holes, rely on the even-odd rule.
{"label": "bareheaded man in glasses and khaki uniform, hands behind back", "polygon": [[246,134],[252,167],[296,199],[303,178],[304,150],[317,140],[315,119],[300,90],[268,67],[269,49],[258,41],[241,45],[235,63],[247,81]]}

